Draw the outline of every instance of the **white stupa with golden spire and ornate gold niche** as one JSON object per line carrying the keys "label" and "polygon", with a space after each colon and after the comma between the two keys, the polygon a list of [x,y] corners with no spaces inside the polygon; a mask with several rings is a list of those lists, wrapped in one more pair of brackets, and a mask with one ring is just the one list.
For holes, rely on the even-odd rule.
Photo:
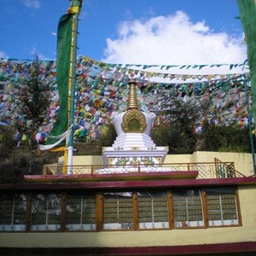
{"label": "white stupa with golden spire and ornate gold niche", "polygon": [[113,115],[117,137],[112,147],[102,148],[103,164],[123,167],[159,166],[166,158],[168,147],[157,147],[151,139],[155,113],[146,113],[139,108],[136,80],[130,79],[128,84],[127,108]]}

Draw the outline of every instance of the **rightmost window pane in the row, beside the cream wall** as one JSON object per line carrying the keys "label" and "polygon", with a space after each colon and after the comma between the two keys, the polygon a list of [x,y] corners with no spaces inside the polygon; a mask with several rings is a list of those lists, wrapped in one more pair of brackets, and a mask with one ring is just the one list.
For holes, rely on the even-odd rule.
{"label": "rightmost window pane in the row, beside the cream wall", "polygon": [[209,226],[239,224],[236,190],[207,189]]}

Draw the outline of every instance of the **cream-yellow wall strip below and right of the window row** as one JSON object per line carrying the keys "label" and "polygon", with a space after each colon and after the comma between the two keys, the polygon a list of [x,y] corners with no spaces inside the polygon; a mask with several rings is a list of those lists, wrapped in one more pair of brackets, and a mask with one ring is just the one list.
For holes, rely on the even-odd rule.
{"label": "cream-yellow wall strip below and right of the window row", "polygon": [[239,188],[242,225],[194,230],[0,233],[0,247],[148,247],[256,241],[256,185]]}

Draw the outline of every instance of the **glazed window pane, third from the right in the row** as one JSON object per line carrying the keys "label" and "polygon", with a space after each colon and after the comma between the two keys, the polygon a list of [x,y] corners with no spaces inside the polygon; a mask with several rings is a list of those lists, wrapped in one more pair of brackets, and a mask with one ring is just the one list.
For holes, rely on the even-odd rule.
{"label": "glazed window pane, third from the right in the row", "polygon": [[137,193],[139,229],[169,228],[166,191]]}

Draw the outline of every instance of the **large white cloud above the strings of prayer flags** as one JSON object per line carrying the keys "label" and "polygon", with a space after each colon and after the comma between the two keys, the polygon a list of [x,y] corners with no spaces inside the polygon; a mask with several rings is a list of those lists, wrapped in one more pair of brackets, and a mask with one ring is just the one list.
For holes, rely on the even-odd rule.
{"label": "large white cloud above the strings of prayer flags", "polygon": [[107,38],[106,58],[112,63],[190,65],[243,63],[242,35],[213,32],[205,21],[193,23],[182,11],[146,20],[125,21],[118,38]]}

